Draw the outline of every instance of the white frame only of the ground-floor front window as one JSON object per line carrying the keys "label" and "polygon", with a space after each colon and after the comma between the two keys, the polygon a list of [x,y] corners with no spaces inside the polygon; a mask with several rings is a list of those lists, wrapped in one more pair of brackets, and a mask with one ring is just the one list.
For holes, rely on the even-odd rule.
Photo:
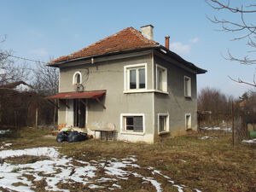
{"label": "white frame only of the ground-floor front window", "polygon": [[[143,117],[143,132],[135,132],[130,130],[125,130],[125,117]],[[121,113],[120,114],[120,133],[131,134],[131,135],[144,135],[145,133],[145,114],[144,113]]]}

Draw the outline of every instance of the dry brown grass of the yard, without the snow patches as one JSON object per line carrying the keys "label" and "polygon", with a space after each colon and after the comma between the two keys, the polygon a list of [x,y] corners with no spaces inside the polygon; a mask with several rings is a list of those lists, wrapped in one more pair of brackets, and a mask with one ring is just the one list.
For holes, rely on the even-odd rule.
{"label": "dry brown grass of the yard, without the snow patches", "polygon": [[[61,147],[58,148],[61,154],[72,157],[73,160],[86,162],[107,162],[113,158],[122,160],[132,156],[137,159],[136,164],[139,168],[127,167],[125,171],[137,172],[148,178],[154,177],[160,183],[162,191],[178,191],[166,177],[185,186],[183,191],[256,191],[255,143],[243,143],[233,147],[231,134],[227,132],[205,131],[186,137],[166,139],[155,144],[105,142],[93,139],[81,143],[56,143],[55,138],[44,137],[47,134],[48,129],[21,129],[0,137],[0,142],[12,143],[9,148],[4,149]],[[200,139],[206,135],[212,138]],[[152,175],[148,167],[154,167],[166,177],[161,177],[160,174]],[[135,176],[131,174],[126,180],[120,179],[118,184],[121,188],[112,191],[156,191],[150,182],[143,182],[143,177]],[[96,172],[94,179],[101,177],[105,177],[104,166]],[[28,179],[33,181],[32,177]],[[113,181],[104,183],[105,189],[88,189],[81,183],[58,183],[58,186],[70,191],[108,191],[109,184],[113,184]],[[34,182],[34,189],[44,191],[45,185],[44,181]]]}

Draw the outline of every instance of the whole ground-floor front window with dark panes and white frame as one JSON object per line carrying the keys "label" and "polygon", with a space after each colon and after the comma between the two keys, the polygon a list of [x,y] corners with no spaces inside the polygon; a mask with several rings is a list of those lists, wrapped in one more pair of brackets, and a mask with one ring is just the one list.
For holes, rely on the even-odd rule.
{"label": "whole ground-floor front window with dark panes and white frame", "polygon": [[144,115],[142,114],[122,114],[121,115],[122,131],[143,132]]}

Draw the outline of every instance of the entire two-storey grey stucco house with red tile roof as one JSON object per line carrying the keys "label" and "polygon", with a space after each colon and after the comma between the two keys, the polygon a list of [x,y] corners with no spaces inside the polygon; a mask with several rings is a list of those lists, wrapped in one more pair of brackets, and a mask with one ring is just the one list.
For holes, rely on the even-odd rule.
{"label": "entire two-storey grey stucco house with red tile roof", "polygon": [[207,71],[153,40],[154,26],[133,27],[50,61],[60,68],[62,127],[115,129],[114,137],[157,142],[197,129],[196,74]]}

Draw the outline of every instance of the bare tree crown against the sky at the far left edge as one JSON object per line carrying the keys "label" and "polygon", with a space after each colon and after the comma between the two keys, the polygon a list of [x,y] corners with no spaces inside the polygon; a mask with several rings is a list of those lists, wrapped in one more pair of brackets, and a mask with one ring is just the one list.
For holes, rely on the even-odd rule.
{"label": "bare tree crown against the sky at the far left edge", "polygon": [[[6,37],[2,38],[0,45],[3,44]],[[26,80],[29,71],[26,64],[21,64],[12,58],[11,50],[4,50],[0,47],[0,86],[15,81]]]}

